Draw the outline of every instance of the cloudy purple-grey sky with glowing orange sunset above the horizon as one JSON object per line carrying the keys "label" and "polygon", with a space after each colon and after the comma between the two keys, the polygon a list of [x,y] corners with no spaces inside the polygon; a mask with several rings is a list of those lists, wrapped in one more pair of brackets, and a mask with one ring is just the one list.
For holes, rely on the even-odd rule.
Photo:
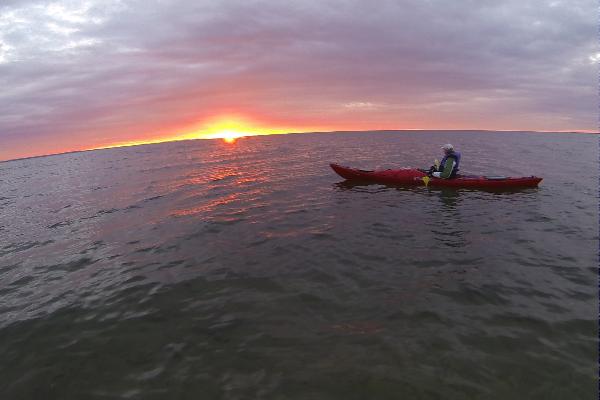
{"label": "cloudy purple-grey sky with glowing orange sunset above the horizon", "polygon": [[592,0],[0,0],[0,160],[240,134],[597,131]]}

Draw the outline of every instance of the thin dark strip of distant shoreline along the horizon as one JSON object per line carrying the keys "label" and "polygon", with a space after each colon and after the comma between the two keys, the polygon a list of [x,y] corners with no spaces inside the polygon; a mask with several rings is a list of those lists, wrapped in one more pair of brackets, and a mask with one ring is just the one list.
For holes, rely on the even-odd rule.
{"label": "thin dark strip of distant shoreline along the horizon", "polygon": [[[362,131],[317,131],[317,132],[288,132],[282,134],[257,134],[250,136],[243,136],[246,138],[254,137],[254,136],[274,136],[274,135],[299,135],[299,134],[321,134],[321,133],[382,133],[382,132],[486,132],[486,133],[539,133],[539,134],[568,134],[568,135],[598,135],[600,132],[582,132],[582,131],[516,131],[516,130],[492,130],[492,129],[372,129],[372,130],[362,130]],[[51,153],[51,154],[40,154],[36,156],[28,156],[28,157],[19,157],[19,158],[11,158],[8,160],[0,160],[1,163],[7,163],[12,161],[22,161],[22,160],[30,160],[35,158],[44,158],[44,157],[53,157],[53,156],[62,156],[65,154],[76,154],[76,153],[87,153],[91,151],[100,151],[100,150],[111,150],[111,149],[120,149],[124,147],[137,147],[137,146],[148,146],[155,144],[165,144],[165,143],[175,143],[175,142],[187,142],[187,141],[195,141],[195,140],[221,140],[221,138],[195,138],[195,139],[180,139],[180,140],[168,140],[163,142],[155,142],[155,143],[139,143],[139,144],[129,144],[123,146],[112,146],[112,147],[100,147],[96,149],[83,149],[83,150],[71,150],[65,151],[61,153]]]}

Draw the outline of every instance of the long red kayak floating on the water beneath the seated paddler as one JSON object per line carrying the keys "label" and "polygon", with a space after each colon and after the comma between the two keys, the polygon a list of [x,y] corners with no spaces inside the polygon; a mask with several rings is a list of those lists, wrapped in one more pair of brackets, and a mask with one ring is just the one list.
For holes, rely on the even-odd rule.
{"label": "long red kayak floating on the water beneath the seated paddler", "polygon": [[542,178],[538,178],[537,176],[513,178],[508,176],[457,175],[456,178],[452,179],[429,178],[428,182],[426,182],[427,173],[416,168],[365,171],[362,169],[343,167],[337,164],[330,165],[339,176],[348,180],[369,181],[396,185],[428,184],[429,186],[510,189],[536,187],[538,183],[542,181]]}

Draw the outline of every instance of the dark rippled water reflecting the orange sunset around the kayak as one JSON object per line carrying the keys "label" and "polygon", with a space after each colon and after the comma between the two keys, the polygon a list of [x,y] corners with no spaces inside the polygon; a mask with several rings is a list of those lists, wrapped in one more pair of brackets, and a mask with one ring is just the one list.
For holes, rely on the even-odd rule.
{"label": "dark rippled water reflecting the orange sunset around the kayak", "polygon": [[[330,162],[538,175],[486,192]],[[0,163],[0,399],[596,399],[598,136],[366,132]]]}

